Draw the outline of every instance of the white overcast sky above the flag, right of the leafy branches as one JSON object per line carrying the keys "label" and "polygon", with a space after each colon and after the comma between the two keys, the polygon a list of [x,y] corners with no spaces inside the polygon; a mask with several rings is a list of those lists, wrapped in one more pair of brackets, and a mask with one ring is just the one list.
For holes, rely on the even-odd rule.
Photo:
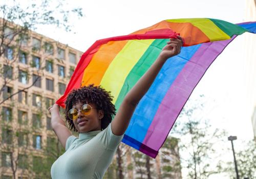
{"label": "white overcast sky above the flag, right of the leafy branches", "polygon": [[[60,33],[57,29],[38,29],[81,51],[101,38],[126,35],[164,19],[209,17],[240,23],[244,16],[244,0],[158,0],[158,1],[67,1],[69,7],[81,7],[85,17],[72,18],[76,34]],[[58,32],[58,33],[55,33]]]}

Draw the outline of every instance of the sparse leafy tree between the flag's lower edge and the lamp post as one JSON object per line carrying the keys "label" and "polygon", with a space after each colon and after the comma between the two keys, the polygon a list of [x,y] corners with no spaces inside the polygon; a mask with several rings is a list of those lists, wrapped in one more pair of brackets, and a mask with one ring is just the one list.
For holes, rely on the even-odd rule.
{"label": "sparse leafy tree between the flag's lower edge and the lamp post", "polygon": [[[220,154],[216,152],[215,144],[221,145],[224,130],[212,128],[207,119],[198,118],[197,112],[202,110],[203,95],[193,106],[184,106],[173,133],[182,137],[179,148],[185,156],[181,156],[183,166],[188,170],[189,178],[208,178],[209,175],[220,171]],[[210,165],[211,164],[211,165]]]}

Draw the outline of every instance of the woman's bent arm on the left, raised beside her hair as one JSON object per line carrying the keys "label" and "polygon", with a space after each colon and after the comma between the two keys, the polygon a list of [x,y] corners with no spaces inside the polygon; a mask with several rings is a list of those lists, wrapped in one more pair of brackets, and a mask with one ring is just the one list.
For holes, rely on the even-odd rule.
{"label": "woman's bent arm on the left, raised beside her hair", "polygon": [[66,148],[66,141],[72,135],[71,131],[66,127],[65,122],[61,119],[59,115],[59,106],[58,104],[54,104],[49,107],[49,111],[52,115],[51,124],[53,131],[55,132],[58,140],[61,145]]}

